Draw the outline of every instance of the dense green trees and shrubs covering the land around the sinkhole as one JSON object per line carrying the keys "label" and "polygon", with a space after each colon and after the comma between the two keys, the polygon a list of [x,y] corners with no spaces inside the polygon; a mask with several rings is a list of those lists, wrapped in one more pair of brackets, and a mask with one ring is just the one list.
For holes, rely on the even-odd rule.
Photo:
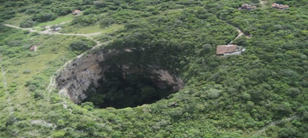
{"label": "dense green trees and shrubs covering the land around the sinkhole", "polygon": [[[76,105],[47,87],[64,61],[94,42],[1,25],[8,84],[0,84],[0,137],[308,137],[308,1],[268,2],[0,1],[1,22],[19,21],[21,27],[74,9],[83,10],[71,21],[74,26],[124,24],[95,39],[114,39],[104,49],[147,49],[148,58],[127,60],[141,58],[186,82],[178,93],[136,108]],[[271,8],[272,2],[290,9]],[[238,10],[242,3],[262,8]],[[18,20],[21,15],[26,18]],[[253,37],[234,40],[233,26]],[[233,40],[247,49],[243,55],[215,55],[216,45]],[[41,51],[29,51],[39,43]],[[33,58],[40,59],[38,65]]]}

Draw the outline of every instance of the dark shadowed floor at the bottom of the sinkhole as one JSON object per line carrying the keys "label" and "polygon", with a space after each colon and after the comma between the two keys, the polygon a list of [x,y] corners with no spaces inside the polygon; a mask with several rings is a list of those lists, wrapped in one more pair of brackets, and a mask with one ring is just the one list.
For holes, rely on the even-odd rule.
{"label": "dark shadowed floor at the bottom of the sinkhole", "polygon": [[168,82],[156,80],[158,78],[152,75],[146,72],[127,74],[122,67],[110,65],[104,72],[104,79],[98,81],[100,85],[89,86],[86,90],[88,97],[82,102],[92,102],[97,108],[137,107],[154,103],[176,92]]}

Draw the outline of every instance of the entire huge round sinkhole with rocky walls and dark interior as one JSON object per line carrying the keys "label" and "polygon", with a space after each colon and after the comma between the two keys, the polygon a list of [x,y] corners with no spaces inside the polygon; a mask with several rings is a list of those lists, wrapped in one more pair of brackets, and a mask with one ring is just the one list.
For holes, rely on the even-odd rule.
{"label": "entire huge round sinkhole with rocky walls and dark interior", "polygon": [[[97,108],[137,107],[167,98],[184,87],[182,79],[150,49],[100,50],[82,56],[57,76],[61,94]],[[170,62],[175,63],[170,58]],[[169,61],[164,62],[169,64]]]}

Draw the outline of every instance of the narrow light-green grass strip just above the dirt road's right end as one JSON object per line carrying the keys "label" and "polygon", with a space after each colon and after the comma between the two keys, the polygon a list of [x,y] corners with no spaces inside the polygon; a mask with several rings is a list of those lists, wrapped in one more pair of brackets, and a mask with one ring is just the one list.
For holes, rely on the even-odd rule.
{"label": "narrow light-green grass strip just above the dirt road's right end", "polygon": [[119,30],[122,28],[124,28],[124,25],[118,25],[118,24],[113,24],[111,25],[111,27],[108,27],[107,29],[100,28],[100,25],[98,24],[93,25],[93,26],[82,27],[82,28],[65,25],[60,32],[61,33],[72,33],[72,34],[77,34],[77,33],[78,34],[89,34],[89,33],[102,32],[102,34],[105,34],[105,33],[111,33],[115,30]]}

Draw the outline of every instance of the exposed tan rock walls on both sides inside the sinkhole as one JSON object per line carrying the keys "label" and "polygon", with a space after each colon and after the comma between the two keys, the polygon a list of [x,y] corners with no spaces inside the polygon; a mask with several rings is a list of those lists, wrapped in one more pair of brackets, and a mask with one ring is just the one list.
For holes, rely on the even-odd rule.
{"label": "exposed tan rock walls on both sides inside the sinkhole", "polygon": [[[57,76],[57,88],[65,93],[71,101],[80,104],[89,96],[86,91],[89,88],[98,87],[100,79],[104,80],[104,72],[110,67],[104,61],[114,56],[121,57],[121,54],[127,52],[131,53],[133,50],[126,49],[122,52],[119,50],[95,51],[76,59]],[[164,88],[165,83],[172,86],[173,91],[181,90],[184,87],[184,82],[180,77],[171,75],[168,71],[161,70],[156,65],[139,65],[129,62],[114,64],[122,68],[123,74],[147,72],[151,81],[160,88]]]}

